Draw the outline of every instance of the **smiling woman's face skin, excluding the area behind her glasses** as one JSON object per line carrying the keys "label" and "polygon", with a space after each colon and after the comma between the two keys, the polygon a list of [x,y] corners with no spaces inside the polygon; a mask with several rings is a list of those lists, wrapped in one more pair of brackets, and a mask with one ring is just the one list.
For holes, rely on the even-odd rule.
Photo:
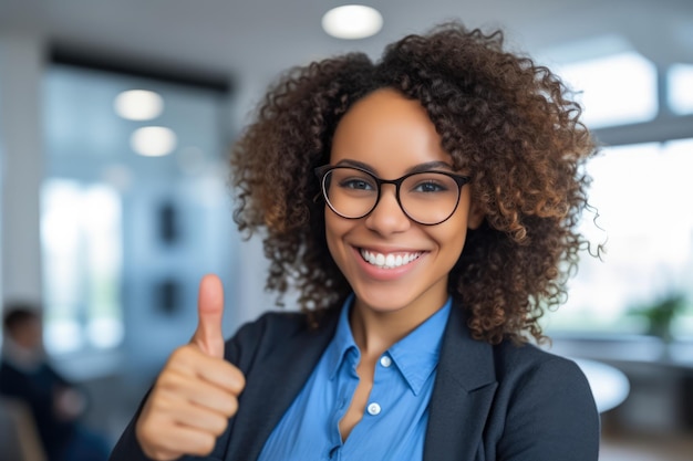
{"label": "smiling woman's face skin, excluding the area behind her glasses", "polygon": [[[423,164],[431,164],[426,169],[454,172],[452,157],[442,149],[425,109],[394,90],[376,91],[354,104],[334,133],[330,165],[359,165],[379,178],[396,179]],[[469,186],[462,188],[452,217],[436,226],[407,218],[393,185],[382,186],[377,206],[364,218],[345,219],[325,206],[328,247],[355,292],[356,305],[417,316],[445,303],[447,275],[467,228],[482,219],[472,210]],[[396,262],[383,265],[383,258]]]}

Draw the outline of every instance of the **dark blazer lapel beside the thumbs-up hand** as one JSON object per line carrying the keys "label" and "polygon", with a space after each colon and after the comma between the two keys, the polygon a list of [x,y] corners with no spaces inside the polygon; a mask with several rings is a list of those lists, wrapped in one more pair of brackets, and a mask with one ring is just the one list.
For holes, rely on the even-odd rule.
{"label": "dark blazer lapel beside the thumbs-up hand", "polygon": [[258,459],[332,339],[338,318],[339,315],[327,313],[318,329],[306,329],[255,365],[258,373],[246,383],[225,460]]}

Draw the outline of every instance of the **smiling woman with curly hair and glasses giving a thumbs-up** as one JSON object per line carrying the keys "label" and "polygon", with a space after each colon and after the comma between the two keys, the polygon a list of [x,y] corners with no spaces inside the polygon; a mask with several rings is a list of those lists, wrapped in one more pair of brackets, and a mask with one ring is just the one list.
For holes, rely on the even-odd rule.
{"label": "smiling woman with curly hair and glasses giving a thumbs-up", "polygon": [[288,73],[231,154],[235,219],[303,312],[225,343],[206,276],[113,460],[596,461],[588,380],[529,344],[588,245],[579,115],[458,23]]}

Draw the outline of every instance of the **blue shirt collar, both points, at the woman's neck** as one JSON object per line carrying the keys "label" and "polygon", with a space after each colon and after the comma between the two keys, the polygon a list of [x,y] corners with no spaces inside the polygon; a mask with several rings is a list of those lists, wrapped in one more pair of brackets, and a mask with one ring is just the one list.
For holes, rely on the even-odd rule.
{"label": "blue shirt collar, both points, at the woman's neck", "polygon": [[[351,333],[349,310],[353,302],[353,293],[344,301],[337,324],[334,337],[327,350],[330,379],[334,379],[345,357],[355,364],[361,353]],[[390,355],[410,388],[417,395],[438,364],[443,332],[452,308],[453,300],[448,297],[443,307],[418,325],[412,333],[395,343],[385,354]]]}

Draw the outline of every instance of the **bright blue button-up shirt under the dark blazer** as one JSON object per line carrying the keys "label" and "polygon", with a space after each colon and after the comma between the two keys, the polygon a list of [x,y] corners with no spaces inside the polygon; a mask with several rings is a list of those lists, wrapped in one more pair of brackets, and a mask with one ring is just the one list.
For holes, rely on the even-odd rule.
{"label": "bright blue button-up shirt under the dark blazer", "polygon": [[361,359],[349,325],[352,300],[344,304],[332,342],[270,434],[259,461],[423,459],[428,401],[452,298],[381,356],[363,418],[344,442],[339,421],[359,384]]}

